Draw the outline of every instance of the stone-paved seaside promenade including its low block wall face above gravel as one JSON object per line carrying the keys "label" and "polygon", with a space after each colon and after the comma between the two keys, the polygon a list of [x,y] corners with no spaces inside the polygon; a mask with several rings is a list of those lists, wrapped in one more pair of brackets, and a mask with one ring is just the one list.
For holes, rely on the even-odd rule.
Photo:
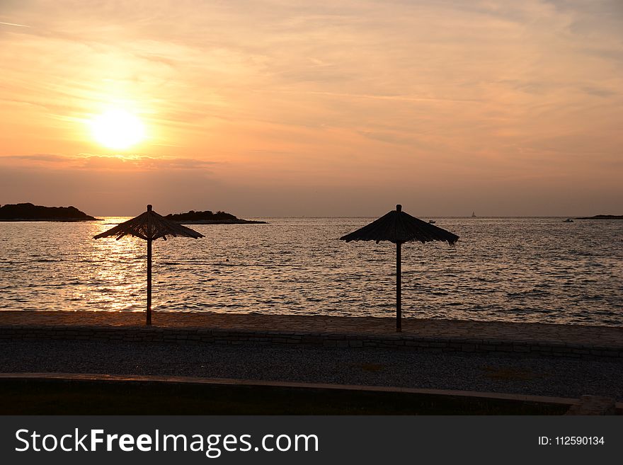
{"label": "stone-paved seaside promenade including its low block wall face above gravel", "polygon": [[395,348],[623,360],[623,328],[404,318],[154,312],[1,311],[2,339],[133,340]]}

